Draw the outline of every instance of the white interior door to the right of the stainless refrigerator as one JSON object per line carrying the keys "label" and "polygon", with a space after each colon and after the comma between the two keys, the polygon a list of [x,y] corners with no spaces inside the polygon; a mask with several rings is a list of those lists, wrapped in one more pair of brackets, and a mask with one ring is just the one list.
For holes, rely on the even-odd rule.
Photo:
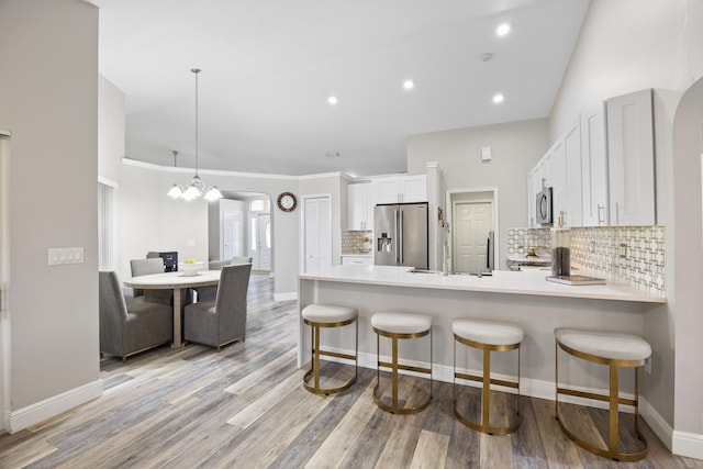
{"label": "white interior door to the right of the stainless refrigerator", "polygon": [[488,265],[488,236],[493,230],[490,202],[454,204],[454,270],[479,273]]}

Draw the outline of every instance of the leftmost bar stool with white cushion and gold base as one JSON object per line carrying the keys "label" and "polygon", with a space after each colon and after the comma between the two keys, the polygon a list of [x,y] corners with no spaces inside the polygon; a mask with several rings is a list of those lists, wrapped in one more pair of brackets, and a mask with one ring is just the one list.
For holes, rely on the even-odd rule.
{"label": "leftmost bar stool with white cushion and gold base", "polygon": [[[345,391],[356,382],[358,377],[358,355],[359,355],[359,324],[357,322],[358,310],[349,306],[337,306],[333,304],[310,304],[301,312],[303,322],[312,327],[312,365],[303,377],[305,389],[315,394],[334,394]],[[355,350],[354,355],[339,351],[323,350],[320,346],[321,330],[327,327],[342,327],[348,324],[356,324]],[[336,388],[323,388],[320,386],[320,357],[336,357],[354,360],[354,377],[348,379],[343,386]],[[310,383],[312,378],[312,384]]]}

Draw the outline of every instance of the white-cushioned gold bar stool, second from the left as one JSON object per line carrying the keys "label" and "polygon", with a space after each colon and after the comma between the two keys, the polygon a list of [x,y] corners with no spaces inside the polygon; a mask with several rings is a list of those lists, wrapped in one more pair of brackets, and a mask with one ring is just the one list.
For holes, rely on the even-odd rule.
{"label": "white-cushioned gold bar stool, second from the left", "polygon": [[[371,326],[376,335],[377,372],[376,387],[373,388],[373,400],[376,404],[387,412],[394,414],[414,414],[421,412],[429,405],[432,400],[432,317],[423,314],[399,313],[392,311],[378,312],[371,316]],[[398,340],[409,338],[420,338],[429,335],[429,367],[415,367],[400,364],[398,360]],[[380,337],[391,339],[391,361],[381,361]],[[381,367],[391,369],[391,402],[388,404],[383,395],[379,394]],[[429,375],[429,393],[414,406],[401,406],[399,400],[399,370],[414,371]],[[409,399],[412,397],[409,397]],[[405,401],[408,401],[406,399]]]}

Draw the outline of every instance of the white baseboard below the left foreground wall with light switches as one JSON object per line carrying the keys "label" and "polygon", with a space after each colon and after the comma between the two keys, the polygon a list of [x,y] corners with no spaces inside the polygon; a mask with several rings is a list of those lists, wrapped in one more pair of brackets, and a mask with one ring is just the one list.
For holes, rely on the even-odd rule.
{"label": "white baseboard below the left foreground wall with light switches", "polygon": [[36,425],[80,404],[98,399],[102,395],[102,380],[71,389],[49,399],[27,405],[18,411],[5,414],[7,431],[15,433],[29,426]]}

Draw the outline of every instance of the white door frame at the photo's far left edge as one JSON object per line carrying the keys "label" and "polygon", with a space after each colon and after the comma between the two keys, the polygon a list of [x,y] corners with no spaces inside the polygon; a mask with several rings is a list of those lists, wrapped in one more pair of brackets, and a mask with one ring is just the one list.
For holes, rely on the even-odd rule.
{"label": "white door frame at the photo's far left edge", "polygon": [[10,428],[10,137],[0,129],[0,431]]}

